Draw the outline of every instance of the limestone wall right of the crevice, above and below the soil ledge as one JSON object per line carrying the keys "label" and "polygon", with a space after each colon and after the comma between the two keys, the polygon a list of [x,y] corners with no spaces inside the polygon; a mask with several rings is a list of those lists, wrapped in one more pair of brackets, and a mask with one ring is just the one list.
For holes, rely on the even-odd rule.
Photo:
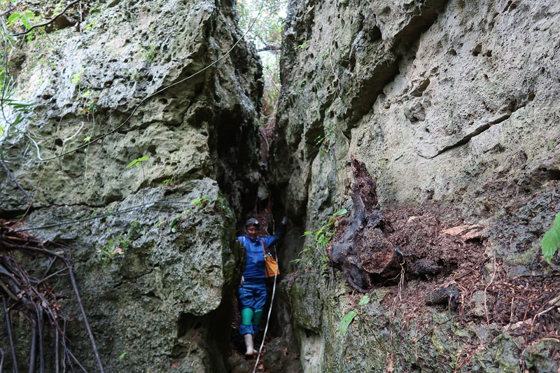
{"label": "limestone wall right of the crevice, above and below the soil ledge", "polygon": [[[486,254],[507,276],[554,276],[558,258],[545,264],[540,238],[560,203],[559,20],[559,3],[547,0],[293,1],[274,148],[291,215],[316,230],[349,206],[352,154],[377,181],[381,206],[455,206],[486,227]],[[340,337],[345,290],[328,288],[318,266],[298,270],[286,300],[300,315],[307,372],[435,371],[454,354],[433,339],[414,358],[424,347],[378,305],[370,328],[391,330],[381,342],[400,346],[400,360],[387,360],[364,321]],[[514,348],[492,343],[512,356],[471,369],[517,370]]]}

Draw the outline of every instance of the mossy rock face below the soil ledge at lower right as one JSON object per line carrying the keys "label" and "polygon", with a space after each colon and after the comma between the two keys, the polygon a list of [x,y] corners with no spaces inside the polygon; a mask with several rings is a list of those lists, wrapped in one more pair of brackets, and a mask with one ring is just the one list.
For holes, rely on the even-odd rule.
{"label": "mossy rock face below the soil ledge at lower right", "polygon": [[[290,290],[293,309],[302,310],[304,321],[321,318],[319,330],[313,323],[294,323],[305,372],[384,372],[388,368],[393,372],[519,372],[523,339],[512,337],[504,328],[459,323],[460,318],[449,321],[455,315],[437,309],[419,315],[421,319],[409,318],[407,307],[390,311],[381,304],[391,288],[372,290],[370,302],[359,306],[361,296],[352,295],[344,280],[338,273],[335,282],[339,285],[333,287],[331,279],[307,272],[283,283]],[[300,292],[308,281],[321,289],[319,300],[313,303],[304,303],[307,295]],[[357,316],[342,333],[339,325],[350,310]],[[523,353],[526,366],[554,372],[558,367],[551,355],[554,345],[558,342],[549,340],[531,346]]]}

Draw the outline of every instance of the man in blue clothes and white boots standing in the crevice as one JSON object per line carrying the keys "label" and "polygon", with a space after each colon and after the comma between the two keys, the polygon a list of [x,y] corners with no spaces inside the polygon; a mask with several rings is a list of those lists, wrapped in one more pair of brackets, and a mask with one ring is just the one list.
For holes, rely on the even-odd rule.
{"label": "man in blue clothes and white boots standing in the crevice", "polygon": [[245,234],[237,237],[245,247],[246,265],[241,276],[241,285],[237,288],[237,299],[241,311],[241,325],[239,333],[245,339],[246,356],[253,356],[258,351],[253,348],[253,335],[258,332],[267,300],[267,286],[265,282],[265,248],[269,248],[280,241],[286,234],[286,217],[282,219],[274,234],[258,237],[260,223],[250,218],[245,223]]}

